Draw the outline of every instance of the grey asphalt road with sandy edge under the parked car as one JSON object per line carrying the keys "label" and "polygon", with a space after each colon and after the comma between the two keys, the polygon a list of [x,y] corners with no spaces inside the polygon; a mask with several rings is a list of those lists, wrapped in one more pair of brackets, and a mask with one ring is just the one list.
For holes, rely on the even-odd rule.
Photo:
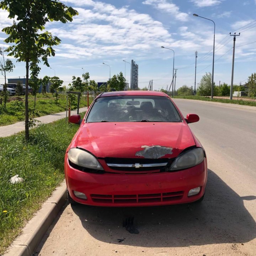
{"label": "grey asphalt road with sandy edge under the parked car", "polygon": [[[175,102],[208,157],[201,204],[97,208],[69,204],[34,255],[256,255],[256,108]],[[133,215],[139,234],[122,227]],[[118,239],[124,239],[118,242]]]}

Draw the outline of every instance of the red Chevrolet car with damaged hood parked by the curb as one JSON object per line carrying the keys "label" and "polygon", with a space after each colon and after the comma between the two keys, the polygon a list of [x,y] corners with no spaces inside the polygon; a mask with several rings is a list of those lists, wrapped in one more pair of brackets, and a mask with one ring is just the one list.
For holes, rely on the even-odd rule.
{"label": "red Chevrolet car with damaged hood parked by the curb", "polygon": [[204,149],[171,98],[156,91],[103,92],[79,123],[65,154],[70,203],[160,206],[201,201]]}

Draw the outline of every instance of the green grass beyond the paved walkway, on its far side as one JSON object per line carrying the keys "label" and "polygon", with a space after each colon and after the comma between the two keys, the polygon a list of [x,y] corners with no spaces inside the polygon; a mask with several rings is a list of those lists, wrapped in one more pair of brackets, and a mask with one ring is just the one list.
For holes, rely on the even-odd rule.
{"label": "green grass beyond the paved walkway, on its far side", "polygon": [[[10,97],[12,99],[13,97]],[[6,111],[3,106],[0,106],[0,126],[13,124],[25,120],[25,96],[20,96],[20,100],[13,100],[6,103]],[[90,102],[92,99],[90,98]],[[34,108],[34,96],[28,95],[28,105]],[[86,98],[80,98],[80,107],[87,106]],[[52,94],[37,94],[36,96],[36,110],[39,111],[39,116],[46,116],[63,112],[66,110],[66,95],[60,94],[59,103],[54,102]]]}

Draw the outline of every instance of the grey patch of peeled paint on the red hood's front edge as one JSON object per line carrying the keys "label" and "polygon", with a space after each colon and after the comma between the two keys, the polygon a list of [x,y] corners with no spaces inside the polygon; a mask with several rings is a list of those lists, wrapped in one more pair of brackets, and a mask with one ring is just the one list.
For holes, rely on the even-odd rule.
{"label": "grey patch of peeled paint on the red hood's front edge", "polygon": [[172,148],[165,146],[141,146],[143,150],[136,152],[135,156],[142,156],[144,158],[158,159],[167,154],[172,154]]}

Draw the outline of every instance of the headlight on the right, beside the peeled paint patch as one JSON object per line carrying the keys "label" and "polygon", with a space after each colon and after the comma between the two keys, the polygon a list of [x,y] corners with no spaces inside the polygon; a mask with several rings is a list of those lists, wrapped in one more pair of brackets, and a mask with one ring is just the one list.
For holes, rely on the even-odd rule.
{"label": "headlight on the right, beside the peeled paint patch", "polygon": [[195,148],[180,154],[170,166],[169,171],[187,169],[200,164],[204,160],[202,148]]}

